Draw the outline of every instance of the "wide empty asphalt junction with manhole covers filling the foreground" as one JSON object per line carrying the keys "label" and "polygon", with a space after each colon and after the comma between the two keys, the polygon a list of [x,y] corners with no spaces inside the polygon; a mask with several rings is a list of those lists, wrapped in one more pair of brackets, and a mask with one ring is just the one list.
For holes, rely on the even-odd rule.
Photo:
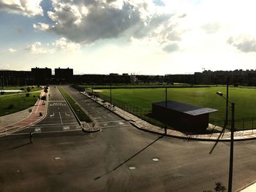
{"label": "wide empty asphalt junction with manhole covers filling the foreground", "polygon": [[[77,102],[91,103],[95,118],[108,114],[94,101]],[[112,114],[99,123],[119,120]],[[0,191],[213,190],[215,182],[227,186],[230,148],[219,142],[212,151],[214,144],[160,137],[129,123],[93,134],[37,133],[33,143],[24,134],[1,137]],[[233,191],[256,179],[255,144],[235,142]]]}

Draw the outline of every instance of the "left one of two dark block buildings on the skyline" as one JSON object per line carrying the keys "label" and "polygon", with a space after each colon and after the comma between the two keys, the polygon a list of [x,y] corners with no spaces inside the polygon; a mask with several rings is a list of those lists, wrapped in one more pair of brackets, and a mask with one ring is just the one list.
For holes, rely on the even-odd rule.
{"label": "left one of two dark block buildings on the skyline", "polygon": [[35,85],[46,85],[50,84],[50,80],[52,77],[51,69],[45,68],[31,68],[32,76],[34,77]]}

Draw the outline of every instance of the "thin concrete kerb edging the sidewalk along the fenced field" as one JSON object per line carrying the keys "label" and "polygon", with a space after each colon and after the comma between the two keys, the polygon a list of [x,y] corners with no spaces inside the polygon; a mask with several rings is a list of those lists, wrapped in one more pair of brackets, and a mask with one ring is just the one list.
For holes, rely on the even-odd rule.
{"label": "thin concrete kerb edging the sidewalk along the fenced field", "polygon": [[[102,104],[100,101],[95,101],[93,98],[91,98],[90,96],[88,96],[86,93],[83,93],[83,92],[80,92],[81,94],[83,94],[84,96],[87,96],[89,99],[91,99],[92,101],[96,102],[97,104],[100,104],[102,105],[103,107],[105,107],[106,109],[108,109],[109,111],[111,112],[114,112],[116,115],[118,115],[118,117],[124,119],[124,120],[127,120],[126,118],[124,118],[122,115],[119,115],[118,113],[116,113],[115,111],[113,110],[110,110],[108,107],[106,107],[104,104]],[[129,120],[127,120],[129,122]],[[132,123],[132,122],[129,122],[132,126],[135,126],[135,128],[138,128],[142,131],[147,131],[147,132],[150,132],[152,134],[159,134],[159,135],[163,135],[163,133],[159,133],[157,131],[151,131],[151,130],[148,130],[146,128],[142,128],[138,125],[136,125],[136,123]],[[220,133],[222,134],[222,133]],[[230,139],[214,139],[214,138],[211,138],[210,137],[210,134],[209,134],[209,138],[197,138],[197,137],[193,137],[192,135],[186,135],[184,134],[185,136],[178,136],[178,135],[175,135],[175,134],[164,134],[166,137],[173,137],[173,138],[176,138],[176,139],[184,139],[184,140],[195,140],[195,141],[203,141],[203,142],[230,142]],[[239,141],[246,141],[246,140],[254,140],[256,139],[256,137],[244,137],[244,138],[234,138],[234,141],[235,142],[239,142]]]}

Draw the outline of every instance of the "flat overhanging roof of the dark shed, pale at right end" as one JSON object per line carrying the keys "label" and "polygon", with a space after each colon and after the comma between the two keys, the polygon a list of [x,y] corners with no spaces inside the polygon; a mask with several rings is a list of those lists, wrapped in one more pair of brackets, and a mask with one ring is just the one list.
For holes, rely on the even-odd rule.
{"label": "flat overhanging roof of the dark shed, pale at right end", "polygon": [[[161,102],[157,102],[157,103],[153,103],[155,105],[158,105],[160,107],[165,107],[165,101],[161,101]],[[218,110],[214,110],[211,108],[206,108],[206,107],[199,107],[199,106],[195,106],[195,105],[191,105],[191,104],[184,104],[184,103],[180,103],[177,101],[167,101],[167,108],[170,110],[174,110],[177,112],[183,112],[185,114],[188,115],[203,115],[206,113],[210,113],[210,112],[217,112]]]}

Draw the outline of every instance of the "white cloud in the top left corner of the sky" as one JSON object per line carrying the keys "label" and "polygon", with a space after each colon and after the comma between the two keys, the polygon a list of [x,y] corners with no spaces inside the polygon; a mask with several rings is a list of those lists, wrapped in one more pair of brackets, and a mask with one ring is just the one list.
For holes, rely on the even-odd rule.
{"label": "white cloud in the top left corner of the sky", "polygon": [[42,0],[0,0],[0,11],[26,15],[28,17],[43,15],[43,10],[40,6],[41,1]]}

